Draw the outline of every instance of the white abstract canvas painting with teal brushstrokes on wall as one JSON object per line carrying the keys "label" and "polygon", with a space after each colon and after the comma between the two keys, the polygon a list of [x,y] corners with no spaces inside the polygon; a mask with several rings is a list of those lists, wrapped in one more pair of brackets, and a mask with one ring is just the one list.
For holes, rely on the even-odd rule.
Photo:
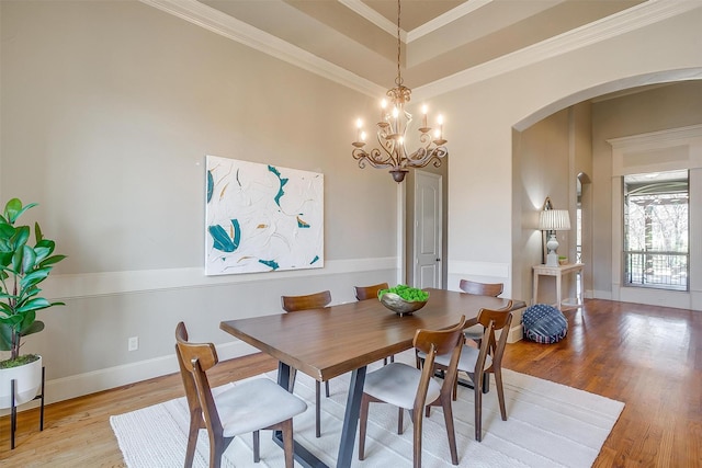
{"label": "white abstract canvas painting with teal brushstrokes on wall", "polygon": [[205,274],[324,266],[324,175],[207,156]]}

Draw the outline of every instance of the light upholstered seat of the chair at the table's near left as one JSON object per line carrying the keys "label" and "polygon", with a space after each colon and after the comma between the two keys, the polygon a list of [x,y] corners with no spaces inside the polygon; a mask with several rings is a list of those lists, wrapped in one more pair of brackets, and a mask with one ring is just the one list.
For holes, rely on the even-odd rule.
{"label": "light upholstered seat of the chair at the table's near left", "polygon": [[268,427],[307,409],[307,403],[267,378],[244,381],[214,399],[225,437]]}

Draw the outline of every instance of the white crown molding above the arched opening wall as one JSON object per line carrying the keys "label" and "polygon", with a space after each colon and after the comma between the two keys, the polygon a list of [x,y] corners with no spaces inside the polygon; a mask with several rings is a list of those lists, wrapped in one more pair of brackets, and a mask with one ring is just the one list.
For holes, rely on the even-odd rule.
{"label": "white crown molding above the arched opening wall", "polygon": [[432,83],[417,87],[412,92],[420,100],[444,94],[699,8],[702,8],[702,2],[697,0],[648,0],[629,10],[586,24],[523,49],[460,71]]}

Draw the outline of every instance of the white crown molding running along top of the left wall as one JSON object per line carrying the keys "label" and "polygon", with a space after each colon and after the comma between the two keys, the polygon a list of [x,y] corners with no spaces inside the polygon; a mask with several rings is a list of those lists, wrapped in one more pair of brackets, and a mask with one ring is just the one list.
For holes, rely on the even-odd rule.
{"label": "white crown molding running along top of the left wall", "polygon": [[371,80],[196,0],[139,1],[363,94],[370,96],[385,94],[385,88]]}

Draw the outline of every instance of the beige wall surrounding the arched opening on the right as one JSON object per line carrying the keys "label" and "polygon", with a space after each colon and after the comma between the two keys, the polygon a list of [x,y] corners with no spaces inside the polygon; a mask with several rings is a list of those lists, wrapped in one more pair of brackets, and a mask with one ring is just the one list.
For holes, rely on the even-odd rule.
{"label": "beige wall surrounding the arched opening on the right", "polygon": [[[511,246],[512,222],[523,222],[512,213],[512,127],[523,130],[555,111],[605,92],[702,77],[700,24],[702,4],[684,14],[474,82],[435,100],[434,105],[451,116],[444,129],[453,135],[449,172],[450,284],[473,265],[484,265],[486,270],[507,271],[506,296],[512,294],[513,259],[511,249],[505,246]],[[592,190],[597,191],[595,183]],[[540,194],[529,203],[541,206],[543,197]],[[596,263],[593,275],[609,269],[610,263]]]}

